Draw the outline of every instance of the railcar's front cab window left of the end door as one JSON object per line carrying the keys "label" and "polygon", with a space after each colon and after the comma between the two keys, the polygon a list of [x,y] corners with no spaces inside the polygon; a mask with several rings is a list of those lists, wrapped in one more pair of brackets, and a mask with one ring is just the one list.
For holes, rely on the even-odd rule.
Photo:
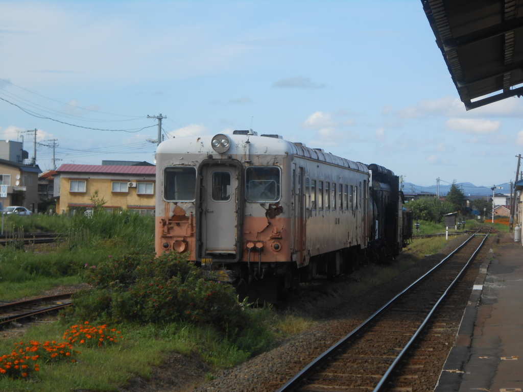
{"label": "railcar's front cab window left of the end door", "polygon": [[166,201],[196,199],[196,168],[168,166],[164,169],[163,197]]}

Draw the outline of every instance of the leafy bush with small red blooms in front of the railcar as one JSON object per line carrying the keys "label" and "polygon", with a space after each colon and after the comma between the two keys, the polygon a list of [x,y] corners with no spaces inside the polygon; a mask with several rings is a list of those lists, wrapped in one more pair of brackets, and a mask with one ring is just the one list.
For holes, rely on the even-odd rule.
{"label": "leafy bush with small red blooms in front of the railcar", "polygon": [[69,316],[106,322],[188,322],[211,325],[228,336],[249,324],[234,288],[206,280],[175,252],[109,258],[85,265],[91,290],[73,297]]}

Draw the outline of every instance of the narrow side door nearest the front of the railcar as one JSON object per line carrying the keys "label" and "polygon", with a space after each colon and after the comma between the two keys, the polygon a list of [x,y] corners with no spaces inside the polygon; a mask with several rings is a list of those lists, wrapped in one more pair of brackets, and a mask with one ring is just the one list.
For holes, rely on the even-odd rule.
{"label": "narrow side door nearest the front of the railcar", "polygon": [[292,170],[294,179],[294,214],[293,214],[293,261],[300,266],[304,262],[305,250],[305,170],[303,167]]}

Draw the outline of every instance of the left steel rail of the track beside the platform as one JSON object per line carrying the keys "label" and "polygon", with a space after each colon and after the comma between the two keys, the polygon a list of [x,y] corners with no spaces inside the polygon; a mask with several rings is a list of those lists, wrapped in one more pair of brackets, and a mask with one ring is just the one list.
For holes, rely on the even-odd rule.
{"label": "left steel rail of the track beside the platform", "polygon": [[[476,233],[471,235],[467,240],[463,242],[459,247],[454,249],[447,257],[442,259],[436,266],[431,268],[429,271],[427,271],[425,274],[423,274],[420,278],[418,278],[416,281],[414,281],[412,284],[410,284],[408,287],[406,287],[403,291],[401,291],[399,294],[396,294],[392,299],[390,299],[389,302],[387,302],[385,305],[383,305],[381,308],[379,308],[376,312],[374,312],[370,317],[368,317],[365,321],[363,321],[359,326],[357,326],[354,330],[349,332],[345,337],[338,340],[332,347],[325,350],[322,354],[317,356],[312,362],[310,362],[308,365],[306,365],[299,373],[295,374],[289,381],[281,386],[279,389],[277,389],[275,392],[290,392],[298,387],[298,384],[306,377],[308,377],[311,373],[313,373],[314,369],[318,367],[321,363],[323,363],[325,360],[327,360],[335,351],[337,351],[340,347],[342,347],[350,338],[352,338],[354,335],[356,335],[358,332],[366,328],[371,321],[374,320],[380,313],[382,313],[385,309],[389,308],[393,303],[395,303],[400,297],[402,297],[405,293],[413,289],[414,286],[416,286],[418,283],[422,282],[429,276],[431,273],[433,273],[436,269],[438,269],[445,261],[447,261],[450,257],[454,255],[454,253],[458,252],[463,248],[466,244],[469,243],[472,238],[476,234],[478,234],[481,231],[481,228],[477,230]],[[490,230],[488,231],[490,233]],[[482,241],[482,245],[487,238],[488,233],[485,235],[485,238]],[[481,246],[480,246],[481,248]],[[479,249],[476,249],[476,252]],[[475,253],[474,252],[474,255]]]}

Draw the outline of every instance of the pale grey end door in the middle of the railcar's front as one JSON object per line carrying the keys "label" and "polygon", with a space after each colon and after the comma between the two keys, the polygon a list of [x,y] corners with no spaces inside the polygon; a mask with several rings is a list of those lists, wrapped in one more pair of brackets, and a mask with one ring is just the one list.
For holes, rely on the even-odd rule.
{"label": "pale grey end door in the middle of the railcar's front", "polygon": [[201,168],[201,257],[235,261],[238,250],[238,168],[206,165]]}

